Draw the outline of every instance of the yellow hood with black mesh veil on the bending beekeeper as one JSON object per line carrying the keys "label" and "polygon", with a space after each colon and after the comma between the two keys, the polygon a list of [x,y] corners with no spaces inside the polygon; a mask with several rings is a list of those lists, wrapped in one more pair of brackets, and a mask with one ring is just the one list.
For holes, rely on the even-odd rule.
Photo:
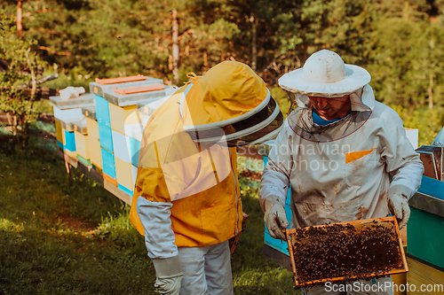
{"label": "yellow hood with black mesh veil on the bending beekeeper", "polygon": [[250,66],[225,61],[194,76],[180,101],[184,130],[197,143],[261,144],[277,136],[283,117]]}

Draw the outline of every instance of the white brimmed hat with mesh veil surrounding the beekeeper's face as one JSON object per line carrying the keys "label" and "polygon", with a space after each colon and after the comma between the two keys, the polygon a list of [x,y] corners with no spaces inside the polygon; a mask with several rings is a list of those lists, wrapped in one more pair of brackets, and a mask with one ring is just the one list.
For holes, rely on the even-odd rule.
{"label": "white brimmed hat with mesh veil surrounding the beekeeper's face", "polygon": [[[289,126],[308,141],[326,143],[349,136],[369,119],[375,105],[371,76],[364,68],[345,64],[337,53],[320,50],[305,61],[303,68],[284,74],[278,83],[297,109],[289,113]],[[351,112],[325,126],[313,122],[308,97],[349,95]]]}

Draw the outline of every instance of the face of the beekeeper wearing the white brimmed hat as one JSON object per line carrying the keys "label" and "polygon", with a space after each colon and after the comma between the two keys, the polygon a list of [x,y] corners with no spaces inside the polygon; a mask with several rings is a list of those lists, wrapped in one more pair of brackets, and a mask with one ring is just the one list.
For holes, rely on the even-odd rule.
{"label": "face of the beekeeper wearing the white brimmed hat", "polygon": [[324,120],[344,117],[351,109],[350,97],[308,97],[316,113]]}

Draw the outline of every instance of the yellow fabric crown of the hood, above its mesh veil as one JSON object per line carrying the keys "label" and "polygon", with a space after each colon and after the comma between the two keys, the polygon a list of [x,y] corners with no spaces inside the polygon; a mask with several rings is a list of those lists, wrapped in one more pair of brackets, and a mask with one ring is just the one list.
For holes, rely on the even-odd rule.
{"label": "yellow fabric crown of the hood, above its mesh veil", "polygon": [[214,123],[224,126],[224,121],[258,107],[268,92],[258,74],[237,61],[224,61],[203,77],[194,75],[188,83],[193,86],[181,105],[185,128]]}

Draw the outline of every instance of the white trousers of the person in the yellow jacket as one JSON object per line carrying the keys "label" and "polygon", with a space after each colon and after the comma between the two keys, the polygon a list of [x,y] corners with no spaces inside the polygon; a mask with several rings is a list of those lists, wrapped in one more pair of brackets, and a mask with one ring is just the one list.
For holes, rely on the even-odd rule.
{"label": "white trousers of the person in the yellow jacket", "polygon": [[184,277],[180,295],[231,295],[233,277],[228,241],[206,247],[179,247]]}

